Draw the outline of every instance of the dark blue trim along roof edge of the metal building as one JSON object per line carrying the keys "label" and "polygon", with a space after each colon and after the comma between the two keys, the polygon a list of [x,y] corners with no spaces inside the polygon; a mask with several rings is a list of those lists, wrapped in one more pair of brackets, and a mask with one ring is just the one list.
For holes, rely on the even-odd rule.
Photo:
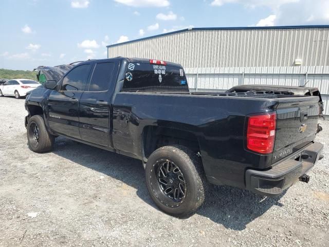
{"label": "dark blue trim along roof edge of the metal building", "polygon": [[131,40],[131,41],[126,41],[118,44],[112,44],[112,45],[107,45],[106,47],[113,47],[113,46],[118,46],[118,45],[124,45],[124,44],[129,44],[129,43],[134,43],[142,40],[150,40],[162,36],[168,36],[171,34],[179,33],[179,32],[186,32],[186,31],[198,31],[198,30],[236,30],[236,29],[300,29],[300,28],[329,28],[329,25],[302,25],[302,26],[272,26],[272,27],[192,27],[192,28],[186,28],[186,29],[181,29],[173,32],[166,32],[166,33],[161,33],[157,34],[154,36],[150,37],[145,37],[137,40]]}

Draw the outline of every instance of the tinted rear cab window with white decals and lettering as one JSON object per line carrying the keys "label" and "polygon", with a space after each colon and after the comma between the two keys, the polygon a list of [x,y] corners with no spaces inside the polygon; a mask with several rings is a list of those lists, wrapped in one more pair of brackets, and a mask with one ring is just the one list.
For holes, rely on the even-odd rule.
{"label": "tinted rear cab window with white decals and lettering", "polygon": [[184,69],[179,66],[150,63],[129,63],[122,92],[184,91],[188,92]]}

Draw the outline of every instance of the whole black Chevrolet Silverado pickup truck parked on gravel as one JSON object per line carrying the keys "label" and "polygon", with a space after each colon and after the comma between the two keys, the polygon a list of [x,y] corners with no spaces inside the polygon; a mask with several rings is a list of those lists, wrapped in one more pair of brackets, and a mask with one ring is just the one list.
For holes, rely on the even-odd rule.
{"label": "whole black Chevrolet Silverado pickup truck parked on gravel", "polygon": [[142,161],[150,195],[183,217],[208,182],[278,196],[322,158],[314,142],[319,97],[273,91],[196,95],[175,63],[84,61],[25,102],[29,147],[64,136]]}

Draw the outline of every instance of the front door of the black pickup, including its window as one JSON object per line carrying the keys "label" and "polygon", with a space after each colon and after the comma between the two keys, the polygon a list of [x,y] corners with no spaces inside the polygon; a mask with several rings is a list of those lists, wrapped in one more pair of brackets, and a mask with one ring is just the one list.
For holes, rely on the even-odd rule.
{"label": "front door of the black pickup, including its window", "polygon": [[48,99],[47,118],[52,131],[81,139],[79,132],[79,100],[85,89],[90,63],[72,68],[63,79],[59,91],[53,90]]}

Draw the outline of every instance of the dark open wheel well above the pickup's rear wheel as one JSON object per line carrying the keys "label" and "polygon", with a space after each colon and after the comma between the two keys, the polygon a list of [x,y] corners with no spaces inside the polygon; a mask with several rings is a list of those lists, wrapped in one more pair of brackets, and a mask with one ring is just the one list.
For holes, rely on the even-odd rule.
{"label": "dark open wheel well above the pickup's rear wheel", "polygon": [[148,158],[156,149],[168,145],[182,145],[194,152],[200,150],[195,134],[189,131],[148,126],[143,131],[144,156]]}

